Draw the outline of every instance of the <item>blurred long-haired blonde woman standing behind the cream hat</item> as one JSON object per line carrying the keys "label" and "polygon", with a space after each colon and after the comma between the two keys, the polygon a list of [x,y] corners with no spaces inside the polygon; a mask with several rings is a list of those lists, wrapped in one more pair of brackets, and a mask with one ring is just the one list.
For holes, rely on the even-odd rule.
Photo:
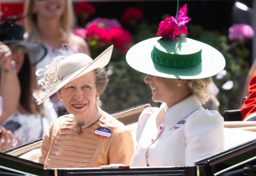
{"label": "blurred long-haired blonde woman standing behind the cream hat", "polygon": [[[65,56],[74,53],[90,55],[85,40],[71,32],[75,22],[72,0],[26,0],[24,16],[28,30],[26,40],[43,43],[47,48],[47,55],[35,69],[50,64],[53,58],[61,55],[59,50],[65,51]],[[70,45],[64,45],[64,49],[63,44]]]}

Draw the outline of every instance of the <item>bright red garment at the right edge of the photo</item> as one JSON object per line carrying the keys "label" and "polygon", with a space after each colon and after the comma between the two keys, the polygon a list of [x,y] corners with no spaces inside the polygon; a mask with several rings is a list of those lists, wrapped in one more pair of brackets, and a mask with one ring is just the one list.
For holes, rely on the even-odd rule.
{"label": "bright red garment at the right edge of the photo", "polygon": [[248,92],[249,96],[245,99],[241,107],[243,120],[245,120],[245,118],[250,114],[256,112],[256,70],[254,70],[252,78],[250,79]]}

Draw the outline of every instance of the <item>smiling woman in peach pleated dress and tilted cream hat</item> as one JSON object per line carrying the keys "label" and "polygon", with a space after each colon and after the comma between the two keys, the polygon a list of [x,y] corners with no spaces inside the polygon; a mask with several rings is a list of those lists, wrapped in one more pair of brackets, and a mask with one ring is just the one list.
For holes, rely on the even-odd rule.
{"label": "smiling woman in peach pleated dress and tilted cream hat", "polygon": [[102,111],[99,96],[108,78],[113,46],[95,60],[82,53],[60,56],[48,65],[40,82],[44,92],[38,103],[54,93],[70,113],[54,120],[41,143],[39,162],[46,168],[100,167],[111,163],[128,165],[133,153],[130,131]]}

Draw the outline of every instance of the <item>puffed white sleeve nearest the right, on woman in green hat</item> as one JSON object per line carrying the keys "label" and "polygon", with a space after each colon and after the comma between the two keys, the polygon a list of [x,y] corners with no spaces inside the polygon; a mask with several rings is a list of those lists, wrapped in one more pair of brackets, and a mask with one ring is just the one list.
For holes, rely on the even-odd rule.
{"label": "puffed white sleeve nearest the right, on woman in green hat", "polygon": [[195,160],[224,150],[224,120],[217,111],[195,111],[187,120],[185,163],[194,165]]}

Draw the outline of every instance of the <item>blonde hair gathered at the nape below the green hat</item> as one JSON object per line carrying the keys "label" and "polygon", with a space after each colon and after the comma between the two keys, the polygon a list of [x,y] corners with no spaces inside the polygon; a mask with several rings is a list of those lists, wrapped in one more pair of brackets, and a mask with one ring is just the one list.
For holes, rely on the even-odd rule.
{"label": "blonde hair gathered at the nape below the green hat", "polygon": [[199,101],[204,104],[208,101],[210,94],[206,91],[206,87],[212,82],[212,77],[196,80],[187,80],[188,87],[196,94]]}

